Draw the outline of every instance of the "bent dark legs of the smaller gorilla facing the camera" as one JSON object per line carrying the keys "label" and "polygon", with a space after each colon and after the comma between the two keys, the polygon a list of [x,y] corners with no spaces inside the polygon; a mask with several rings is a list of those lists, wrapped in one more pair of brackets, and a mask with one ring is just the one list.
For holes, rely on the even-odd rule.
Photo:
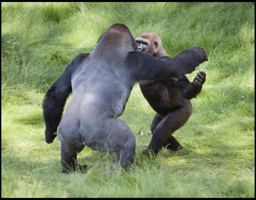
{"label": "bent dark legs of the smaller gorilla facing the camera", "polygon": [[[189,119],[192,114],[192,104],[189,100],[184,100],[180,107],[177,107],[174,111],[171,111],[162,120],[159,120],[156,116],[155,121],[159,120],[155,129],[152,132],[152,139],[145,152],[153,150],[155,156],[161,150],[162,146],[171,144],[170,150],[175,150],[180,146],[179,142],[171,135],[174,131],[181,128]],[[154,128],[154,127],[153,127]],[[173,145],[173,146],[172,146]]]}

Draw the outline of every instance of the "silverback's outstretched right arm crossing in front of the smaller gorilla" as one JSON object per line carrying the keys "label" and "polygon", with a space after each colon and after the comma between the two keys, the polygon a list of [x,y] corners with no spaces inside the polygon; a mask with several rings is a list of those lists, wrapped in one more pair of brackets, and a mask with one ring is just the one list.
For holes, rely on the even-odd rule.
{"label": "silverback's outstretched right arm crossing in front of the smaller gorilla", "polygon": [[[155,58],[144,52],[132,51],[129,52],[126,62],[129,67],[136,66],[133,69],[133,77],[136,81],[139,80],[178,80],[182,75],[190,73],[208,57],[203,47],[191,47],[178,54],[174,58],[164,56]],[[132,62],[137,63],[132,63]],[[156,67],[158,66],[158,67]],[[163,74],[166,77],[163,77]]]}

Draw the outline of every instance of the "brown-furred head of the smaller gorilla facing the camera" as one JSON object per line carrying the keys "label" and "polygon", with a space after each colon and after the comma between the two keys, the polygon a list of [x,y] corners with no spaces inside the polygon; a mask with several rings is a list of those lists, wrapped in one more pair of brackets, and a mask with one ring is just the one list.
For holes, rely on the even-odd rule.
{"label": "brown-furred head of the smaller gorilla facing the camera", "polygon": [[[163,56],[168,56],[160,37],[155,33],[142,33],[136,38],[136,42],[138,43],[138,50],[153,57],[160,58]],[[140,49],[139,44],[141,44]]]}

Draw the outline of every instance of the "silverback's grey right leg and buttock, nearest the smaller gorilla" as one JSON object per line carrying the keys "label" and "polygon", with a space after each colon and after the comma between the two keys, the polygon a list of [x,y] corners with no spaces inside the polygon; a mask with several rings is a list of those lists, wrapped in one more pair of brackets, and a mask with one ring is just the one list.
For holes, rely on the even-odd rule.
{"label": "silverback's grey right leg and buttock, nearest the smaller gorilla", "polygon": [[96,122],[98,127],[86,126],[80,129],[83,143],[92,150],[115,152],[111,169],[115,168],[115,164],[127,169],[134,161],[136,148],[136,139],[130,128],[115,118],[90,116],[90,120]]}

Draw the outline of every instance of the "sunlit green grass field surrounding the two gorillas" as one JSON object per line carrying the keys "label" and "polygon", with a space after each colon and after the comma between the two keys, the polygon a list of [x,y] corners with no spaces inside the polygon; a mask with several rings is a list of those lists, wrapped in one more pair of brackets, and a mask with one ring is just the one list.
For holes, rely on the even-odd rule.
{"label": "sunlit green grass field surrounding the two gorillas", "polygon": [[[1,197],[254,198],[254,12],[253,2],[2,2]],[[59,140],[45,142],[43,96],[115,23],[134,38],[158,34],[171,57],[205,48],[205,84],[173,134],[184,149],[142,155],[155,112],[136,84],[119,117],[136,136],[130,170],[110,173],[114,155],[86,147],[77,160],[88,168],[63,174]]]}

